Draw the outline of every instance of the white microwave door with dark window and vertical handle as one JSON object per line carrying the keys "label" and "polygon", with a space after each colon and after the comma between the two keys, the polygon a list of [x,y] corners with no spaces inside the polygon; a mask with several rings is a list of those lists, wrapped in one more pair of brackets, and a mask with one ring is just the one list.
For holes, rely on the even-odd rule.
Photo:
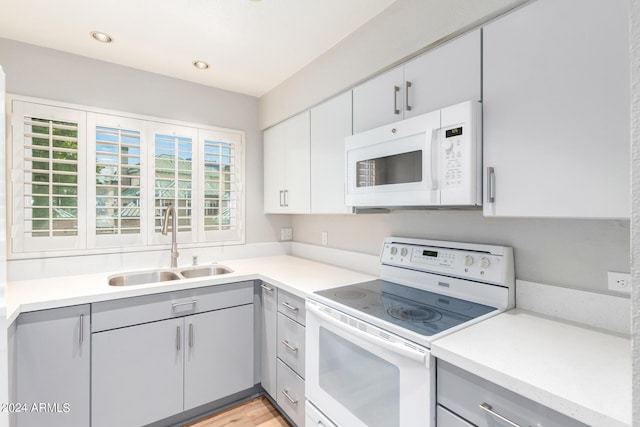
{"label": "white microwave door with dark window and vertical handle", "polygon": [[439,205],[440,111],[345,140],[348,206]]}

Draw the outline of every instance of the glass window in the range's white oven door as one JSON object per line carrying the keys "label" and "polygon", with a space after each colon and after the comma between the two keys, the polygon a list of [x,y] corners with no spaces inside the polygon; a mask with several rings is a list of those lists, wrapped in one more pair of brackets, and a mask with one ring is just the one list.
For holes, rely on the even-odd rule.
{"label": "glass window in the range's white oven door", "polygon": [[322,327],[320,349],[320,388],[368,426],[400,424],[397,366]]}

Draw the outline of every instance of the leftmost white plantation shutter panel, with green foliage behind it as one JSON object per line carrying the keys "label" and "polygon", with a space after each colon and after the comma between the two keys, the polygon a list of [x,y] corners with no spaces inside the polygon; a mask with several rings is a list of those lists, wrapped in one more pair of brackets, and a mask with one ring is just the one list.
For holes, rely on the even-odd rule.
{"label": "leftmost white plantation shutter panel, with green foliage behind it", "polygon": [[85,113],[14,103],[12,247],[83,248]]}

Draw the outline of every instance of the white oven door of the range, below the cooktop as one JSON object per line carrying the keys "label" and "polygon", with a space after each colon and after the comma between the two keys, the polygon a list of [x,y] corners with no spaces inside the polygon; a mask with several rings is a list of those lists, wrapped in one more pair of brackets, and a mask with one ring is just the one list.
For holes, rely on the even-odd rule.
{"label": "white oven door of the range, below the cooktop", "polygon": [[336,425],[435,425],[430,351],[307,300],[306,394]]}

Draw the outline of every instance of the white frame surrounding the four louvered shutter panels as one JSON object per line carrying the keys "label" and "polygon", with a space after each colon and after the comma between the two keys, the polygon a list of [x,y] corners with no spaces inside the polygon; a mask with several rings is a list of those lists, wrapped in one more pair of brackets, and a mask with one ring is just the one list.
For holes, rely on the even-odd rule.
{"label": "white frame surrounding the four louvered shutter panels", "polygon": [[[60,245],[61,237],[48,238],[51,242],[42,244],[43,237],[32,237],[35,244],[25,245],[21,235],[24,222],[24,149],[20,149],[17,139],[22,138],[24,105],[37,105],[40,111],[74,111],[83,116],[78,122],[78,236],[73,236],[73,244]],[[8,223],[11,224],[11,241],[8,245],[8,259],[49,258],[57,256],[96,255],[109,253],[142,252],[165,250],[169,248],[171,236],[162,236],[154,230],[155,205],[155,137],[154,132],[177,132],[184,130],[192,135],[192,231],[179,232],[178,242],[183,248],[240,245],[245,243],[245,131],[217,126],[190,123],[172,119],[158,118],[140,114],[113,111],[90,106],[81,106],[22,95],[7,94],[6,111],[11,115],[12,126],[7,138],[8,165],[6,173],[9,180],[7,198]],[[61,115],[61,117],[66,117]],[[46,118],[46,117],[43,117]],[[54,119],[58,120],[58,117]],[[61,120],[64,121],[64,120]],[[141,190],[140,190],[140,235],[113,234],[97,235],[96,227],[96,129],[97,126],[117,127],[127,130],[139,130]],[[139,125],[140,129],[134,129]],[[204,148],[201,135],[228,136],[236,147],[236,169],[239,186],[237,201],[237,221],[234,230],[206,232],[204,230]],[[82,142],[81,142],[82,141]],[[22,141],[21,141],[22,142]],[[22,144],[24,144],[22,142]],[[146,164],[146,165],[145,165]],[[18,180],[20,178],[20,180]],[[17,185],[22,182],[21,185]],[[82,192],[80,190],[82,186]],[[82,193],[82,195],[80,194]],[[90,202],[93,200],[93,202]],[[22,210],[20,210],[22,209]],[[131,237],[135,236],[135,237]],[[77,238],[76,238],[77,237]]]}

